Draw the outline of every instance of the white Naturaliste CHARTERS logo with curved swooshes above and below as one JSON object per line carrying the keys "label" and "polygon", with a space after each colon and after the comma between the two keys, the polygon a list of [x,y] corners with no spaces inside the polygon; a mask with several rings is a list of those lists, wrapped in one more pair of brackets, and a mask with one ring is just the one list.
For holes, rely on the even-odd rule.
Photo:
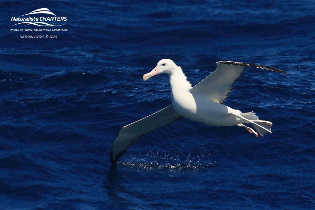
{"label": "white Naturaliste CHARTERS logo with curved swooshes above and below", "polygon": [[[38,17],[39,14],[44,14],[45,16],[41,15],[40,17]],[[26,15],[28,15],[28,17],[23,17]],[[35,16],[32,17],[33,15],[35,15]],[[49,15],[49,16],[47,16],[47,15]],[[55,22],[63,23],[65,21],[67,21],[67,17],[57,16],[54,13],[52,13],[49,9],[41,8],[41,9],[36,9],[34,11],[31,11],[30,13],[23,14],[19,17],[11,17],[11,21],[19,21],[20,22],[20,23],[14,24],[12,26],[19,25],[19,24],[25,24],[24,26],[28,26],[28,25],[63,26],[66,23],[61,24],[61,25],[54,25],[54,24],[55,24]]]}

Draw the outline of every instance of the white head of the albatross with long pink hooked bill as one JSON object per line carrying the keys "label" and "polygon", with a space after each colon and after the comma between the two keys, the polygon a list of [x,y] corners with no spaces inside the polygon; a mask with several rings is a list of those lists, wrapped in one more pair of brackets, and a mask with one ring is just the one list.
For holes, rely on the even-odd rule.
{"label": "white head of the albatross with long pink hooked bill", "polygon": [[155,66],[155,68],[151,72],[143,75],[143,80],[146,81],[150,77],[162,73],[167,73],[170,75],[173,71],[175,71],[178,68],[179,66],[177,66],[173,60],[162,59],[157,63],[157,66]]}

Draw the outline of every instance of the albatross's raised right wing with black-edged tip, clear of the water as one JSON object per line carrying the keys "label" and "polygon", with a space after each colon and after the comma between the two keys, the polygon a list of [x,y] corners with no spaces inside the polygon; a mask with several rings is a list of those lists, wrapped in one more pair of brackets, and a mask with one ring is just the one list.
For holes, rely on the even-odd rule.
{"label": "albatross's raised right wing with black-edged tip, clear of the water", "polygon": [[198,92],[198,94],[202,94],[221,104],[223,104],[224,99],[231,93],[234,82],[241,76],[246,66],[287,74],[285,71],[269,66],[250,63],[219,61],[216,65],[216,70],[195,85],[191,91],[194,93]]}

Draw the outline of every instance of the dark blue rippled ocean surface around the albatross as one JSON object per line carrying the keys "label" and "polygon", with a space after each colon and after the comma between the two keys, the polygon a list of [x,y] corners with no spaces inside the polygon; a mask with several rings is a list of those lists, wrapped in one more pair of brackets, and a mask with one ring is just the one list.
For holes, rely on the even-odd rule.
{"label": "dark blue rippled ocean surface around the albatross", "polygon": [[[59,32],[12,16],[48,8]],[[313,1],[1,1],[0,209],[315,209]],[[57,35],[24,39],[20,35]],[[246,68],[225,105],[273,123],[245,129],[180,119],[109,161],[119,130],[171,103],[157,62],[192,85],[232,60]]]}

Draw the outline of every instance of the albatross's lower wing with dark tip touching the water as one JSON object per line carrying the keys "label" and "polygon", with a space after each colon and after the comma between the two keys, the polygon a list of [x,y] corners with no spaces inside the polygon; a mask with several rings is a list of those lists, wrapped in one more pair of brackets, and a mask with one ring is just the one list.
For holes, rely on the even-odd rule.
{"label": "albatross's lower wing with dark tip touching the water", "polygon": [[116,163],[117,160],[125,153],[137,138],[158,128],[166,126],[182,116],[177,114],[172,105],[155,112],[141,120],[124,126],[120,131],[112,145],[110,160]]}

